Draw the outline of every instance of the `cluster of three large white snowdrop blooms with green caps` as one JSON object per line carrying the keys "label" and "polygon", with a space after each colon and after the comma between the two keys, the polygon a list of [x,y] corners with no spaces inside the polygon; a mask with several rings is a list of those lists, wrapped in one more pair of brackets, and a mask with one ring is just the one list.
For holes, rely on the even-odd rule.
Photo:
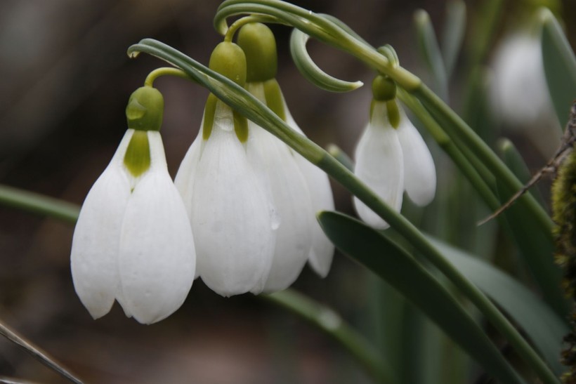
{"label": "cluster of three large white snowdrop blooms with green caps", "polygon": [[[209,67],[303,134],[274,79],[270,29],[247,25],[239,43],[218,44]],[[325,277],[334,246],[314,213],[334,208],[326,174],[211,94],[172,183],[163,105],[154,88],[133,93],[129,130],[81,209],[72,277],[91,315],[117,300],[138,322],[157,322],[181,306],[196,277],[222,296],[285,289],[307,261]]]}

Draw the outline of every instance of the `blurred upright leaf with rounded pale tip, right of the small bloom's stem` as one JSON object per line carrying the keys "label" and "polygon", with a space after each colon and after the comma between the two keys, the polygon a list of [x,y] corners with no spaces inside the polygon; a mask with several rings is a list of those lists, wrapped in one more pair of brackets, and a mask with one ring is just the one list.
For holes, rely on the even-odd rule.
{"label": "blurred upright leaf with rounded pale tip, right of the small bloom's stem", "polygon": [[428,13],[422,9],[416,11],[414,13],[414,25],[416,27],[418,48],[424,63],[433,76],[436,90],[440,93],[443,100],[447,100],[448,79],[446,69]]}

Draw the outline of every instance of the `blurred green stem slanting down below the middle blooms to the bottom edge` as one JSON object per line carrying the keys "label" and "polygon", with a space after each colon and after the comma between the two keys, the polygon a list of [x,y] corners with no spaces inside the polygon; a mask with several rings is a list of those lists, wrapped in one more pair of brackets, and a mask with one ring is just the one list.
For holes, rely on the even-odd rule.
{"label": "blurred green stem slanting down below the middle blooms to the bottom edge", "polygon": [[292,289],[260,297],[294,312],[334,338],[378,383],[398,383],[392,367],[380,352],[333,310]]}

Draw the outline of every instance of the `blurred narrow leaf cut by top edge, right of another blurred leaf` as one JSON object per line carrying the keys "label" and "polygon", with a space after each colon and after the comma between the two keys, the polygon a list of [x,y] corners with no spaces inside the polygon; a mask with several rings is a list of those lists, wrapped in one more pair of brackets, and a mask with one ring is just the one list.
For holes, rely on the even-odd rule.
{"label": "blurred narrow leaf cut by top edge, right of another blurred leaf", "polygon": [[462,48],[466,32],[466,4],[462,0],[452,0],[446,4],[446,21],[442,39],[442,53],[446,76],[452,76],[454,65]]}

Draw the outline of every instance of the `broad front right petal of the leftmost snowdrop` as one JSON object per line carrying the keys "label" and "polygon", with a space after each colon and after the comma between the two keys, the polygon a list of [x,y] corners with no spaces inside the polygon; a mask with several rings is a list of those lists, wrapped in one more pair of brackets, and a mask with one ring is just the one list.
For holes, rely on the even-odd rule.
{"label": "broad front right petal of the leftmost snowdrop", "polygon": [[149,131],[150,170],[126,206],[119,272],[126,312],[151,324],[176,311],[192,286],[195,248],[183,201],[166,169],[159,132]]}

